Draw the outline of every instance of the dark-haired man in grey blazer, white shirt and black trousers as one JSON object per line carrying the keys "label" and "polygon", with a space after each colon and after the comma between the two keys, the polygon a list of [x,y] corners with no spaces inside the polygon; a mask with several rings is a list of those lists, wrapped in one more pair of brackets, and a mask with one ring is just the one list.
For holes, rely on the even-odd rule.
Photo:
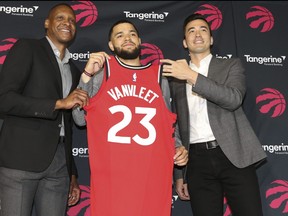
{"label": "dark-haired man in grey blazer, white shirt and black trousers", "polygon": [[164,75],[176,78],[171,97],[178,142],[189,149],[186,172],[175,170],[176,192],[190,199],[193,216],[222,216],[224,195],[233,215],[261,216],[254,165],[266,154],[241,107],[244,68],[237,58],[212,56],[211,29],[200,14],[188,16],[183,31],[189,65],[183,59],[162,60]]}

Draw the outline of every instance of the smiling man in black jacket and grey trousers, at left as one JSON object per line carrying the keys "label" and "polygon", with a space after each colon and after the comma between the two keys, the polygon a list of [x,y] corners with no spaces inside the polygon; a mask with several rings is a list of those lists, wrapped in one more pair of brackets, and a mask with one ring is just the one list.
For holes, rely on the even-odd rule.
{"label": "smiling man in black jacket and grey trousers, at left", "polygon": [[86,93],[69,60],[76,33],[71,6],[54,6],[46,37],[19,39],[0,73],[0,215],[64,216],[79,200],[73,161],[71,108]]}

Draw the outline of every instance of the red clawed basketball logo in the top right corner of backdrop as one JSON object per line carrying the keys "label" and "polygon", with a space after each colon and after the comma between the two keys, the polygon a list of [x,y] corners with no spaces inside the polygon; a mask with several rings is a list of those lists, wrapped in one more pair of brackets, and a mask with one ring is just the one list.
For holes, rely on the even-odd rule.
{"label": "red clawed basketball logo in the top right corner of backdrop", "polygon": [[253,6],[250,9],[253,11],[250,11],[246,14],[246,20],[250,18],[254,19],[249,24],[251,28],[257,29],[260,25],[262,25],[260,32],[268,32],[273,28],[274,17],[267,8],[261,6]]}

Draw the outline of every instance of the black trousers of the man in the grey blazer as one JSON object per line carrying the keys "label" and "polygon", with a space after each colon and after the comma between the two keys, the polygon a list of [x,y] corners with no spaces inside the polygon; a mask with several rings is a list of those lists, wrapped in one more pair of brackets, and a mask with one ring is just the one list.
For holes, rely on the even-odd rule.
{"label": "black trousers of the man in the grey blazer", "polygon": [[223,216],[224,196],[233,216],[263,215],[255,167],[235,167],[219,146],[190,147],[187,183],[193,216]]}

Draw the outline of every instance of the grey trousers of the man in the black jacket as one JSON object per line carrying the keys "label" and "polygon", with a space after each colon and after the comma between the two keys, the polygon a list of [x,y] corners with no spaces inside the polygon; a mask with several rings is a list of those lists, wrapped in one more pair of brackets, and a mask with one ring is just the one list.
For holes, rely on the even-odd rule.
{"label": "grey trousers of the man in the black jacket", "polygon": [[0,167],[0,216],[64,216],[69,183],[64,143],[43,172]]}

